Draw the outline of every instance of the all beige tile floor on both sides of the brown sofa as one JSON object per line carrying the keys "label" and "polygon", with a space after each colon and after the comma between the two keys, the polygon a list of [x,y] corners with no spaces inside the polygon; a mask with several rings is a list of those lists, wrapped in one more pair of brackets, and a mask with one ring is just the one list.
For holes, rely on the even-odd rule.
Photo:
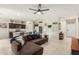
{"label": "all beige tile floor on both sides of the brown sofa", "polygon": [[[58,40],[49,38],[48,43],[41,45],[44,47],[43,55],[70,55],[71,39]],[[0,40],[0,55],[11,55],[11,45],[9,39]]]}

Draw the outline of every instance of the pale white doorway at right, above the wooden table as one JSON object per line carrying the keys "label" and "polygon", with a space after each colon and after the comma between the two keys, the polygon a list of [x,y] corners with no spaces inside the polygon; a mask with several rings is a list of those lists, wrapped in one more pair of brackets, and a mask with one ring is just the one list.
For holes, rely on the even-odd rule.
{"label": "pale white doorway at right, above the wooden table", "polygon": [[75,19],[67,20],[66,24],[67,24],[66,27],[67,38],[76,36],[76,20]]}

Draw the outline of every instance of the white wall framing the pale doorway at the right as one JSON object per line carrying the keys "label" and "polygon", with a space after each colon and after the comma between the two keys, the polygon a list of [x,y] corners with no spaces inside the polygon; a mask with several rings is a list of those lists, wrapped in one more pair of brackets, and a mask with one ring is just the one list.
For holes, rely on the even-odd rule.
{"label": "white wall framing the pale doorway at the right", "polygon": [[[75,33],[74,33],[74,37],[78,37],[78,17],[68,17],[68,18],[62,18],[61,19],[61,31],[64,33],[64,38],[67,38],[67,22],[66,21],[72,21],[72,20],[76,21],[76,25],[75,25]],[[72,26],[72,25],[70,25]],[[73,26],[72,26],[73,27]],[[71,28],[72,31],[74,31],[73,28]]]}

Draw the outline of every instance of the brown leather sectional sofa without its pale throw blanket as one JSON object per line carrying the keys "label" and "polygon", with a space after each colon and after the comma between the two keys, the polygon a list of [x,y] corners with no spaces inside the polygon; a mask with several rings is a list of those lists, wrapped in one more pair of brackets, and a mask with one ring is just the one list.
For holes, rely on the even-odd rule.
{"label": "brown leather sectional sofa without its pale throw blanket", "polygon": [[36,36],[36,39],[33,39],[34,36],[24,36],[25,44],[22,46],[20,43],[13,41],[12,42],[12,51],[16,55],[42,55],[43,47],[39,45],[48,41],[47,36],[41,38],[41,36]]}

